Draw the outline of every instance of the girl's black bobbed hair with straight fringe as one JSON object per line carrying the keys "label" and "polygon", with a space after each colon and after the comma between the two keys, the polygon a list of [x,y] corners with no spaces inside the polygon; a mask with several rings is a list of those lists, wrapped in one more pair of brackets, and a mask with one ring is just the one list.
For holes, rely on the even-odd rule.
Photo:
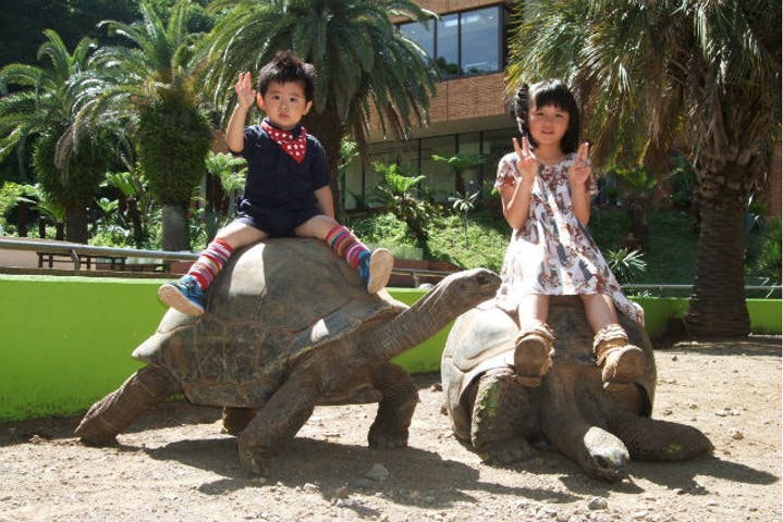
{"label": "girl's black bobbed hair with straight fringe", "polygon": [[560,148],[566,154],[576,152],[576,149],[579,148],[579,109],[576,107],[576,100],[571,90],[559,79],[545,79],[533,84],[533,87],[522,84],[516,89],[514,98],[516,123],[519,126],[522,136],[526,137],[530,146],[535,148],[538,147],[538,144],[530,136],[530,128],[527,123],[530,100],[533,100],[533,107],[536,108],[554,105],[568,112],[568,128],[560,142]]}

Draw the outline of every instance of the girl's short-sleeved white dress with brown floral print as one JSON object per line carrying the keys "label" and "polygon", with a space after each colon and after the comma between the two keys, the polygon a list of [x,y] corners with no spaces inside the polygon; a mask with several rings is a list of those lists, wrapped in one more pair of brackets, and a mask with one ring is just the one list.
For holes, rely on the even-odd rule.
{"label": "girl's short-sleeved white dress with brown floral print", "polygon": [[[496,187],[504,176],[518,176],[516,152],[498,164]],[[519,298],[529,294],[605,294],[615,308],[645,324],[644,310],[623,294],[596,241],[573,212],[568,167],[574,154],[556,165],[540,165],[533,185],[530,213],[521,229],[512,231],[501,269],[498,304],[516,313]],[[597,191],[595,178],[590,192]]]}

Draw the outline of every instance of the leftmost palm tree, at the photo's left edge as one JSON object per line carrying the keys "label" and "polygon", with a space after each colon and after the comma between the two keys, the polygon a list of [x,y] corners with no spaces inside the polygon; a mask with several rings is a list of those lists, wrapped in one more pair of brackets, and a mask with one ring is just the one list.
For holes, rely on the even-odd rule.
{"label": "leftmost palm tree, at the photo's left edge", "polygon": [[33,146],[35,173],[42,194],[65,209],[65,238],[87,243],[87,207],[98,191],[112,151],[106,136],[87,136],[78,148],[59,147],[70,142],[73,133],[75,100],[81,95],[76,79],[88,74],[93,40],[83,38],[69,53],[60,36],[44,32],[47,38],[38,49],[38,59],[47,66],[21,63],[0,71],[0,90],[8,85],[22,87],[0,100],[0,160],[16,151],[20,171],[26,170],[28,147]]}

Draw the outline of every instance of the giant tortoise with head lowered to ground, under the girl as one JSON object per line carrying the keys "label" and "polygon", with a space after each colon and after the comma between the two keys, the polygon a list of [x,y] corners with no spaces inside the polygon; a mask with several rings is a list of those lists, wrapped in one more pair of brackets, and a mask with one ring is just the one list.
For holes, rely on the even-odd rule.
{"label": "giant tortoise with head lowered to ground, under the girl", "polygon": [[592,331],[576,296],[550,298],[555,333],[553,366],[540,386],[523,385],[514,372],[516,320],[482,302],[457,318],[441,359],[446,409],[457,439],[482,460],[509,464],[549,443],[589,475],[617,481],[628,460],[686,460],[712,450],[692,426],[650,418],[656,363],[647,333],[621,316],[632,344],[646,355],[634,384],[604,389],[592,355]]}

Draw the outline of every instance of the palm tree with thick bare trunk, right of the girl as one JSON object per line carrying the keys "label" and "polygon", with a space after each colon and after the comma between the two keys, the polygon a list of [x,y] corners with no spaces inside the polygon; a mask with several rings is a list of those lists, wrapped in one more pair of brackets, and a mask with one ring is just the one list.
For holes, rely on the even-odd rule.
{"label": "palm tree with thick bare trunk, right of the girl", "polygon": [[572,85],[594,161],[654,166],[687,149],[701,226],[685,322],[695,337],[746,335],[743,221],[780,136],[780,2],[528,0],[516,16],[509,90]]}

